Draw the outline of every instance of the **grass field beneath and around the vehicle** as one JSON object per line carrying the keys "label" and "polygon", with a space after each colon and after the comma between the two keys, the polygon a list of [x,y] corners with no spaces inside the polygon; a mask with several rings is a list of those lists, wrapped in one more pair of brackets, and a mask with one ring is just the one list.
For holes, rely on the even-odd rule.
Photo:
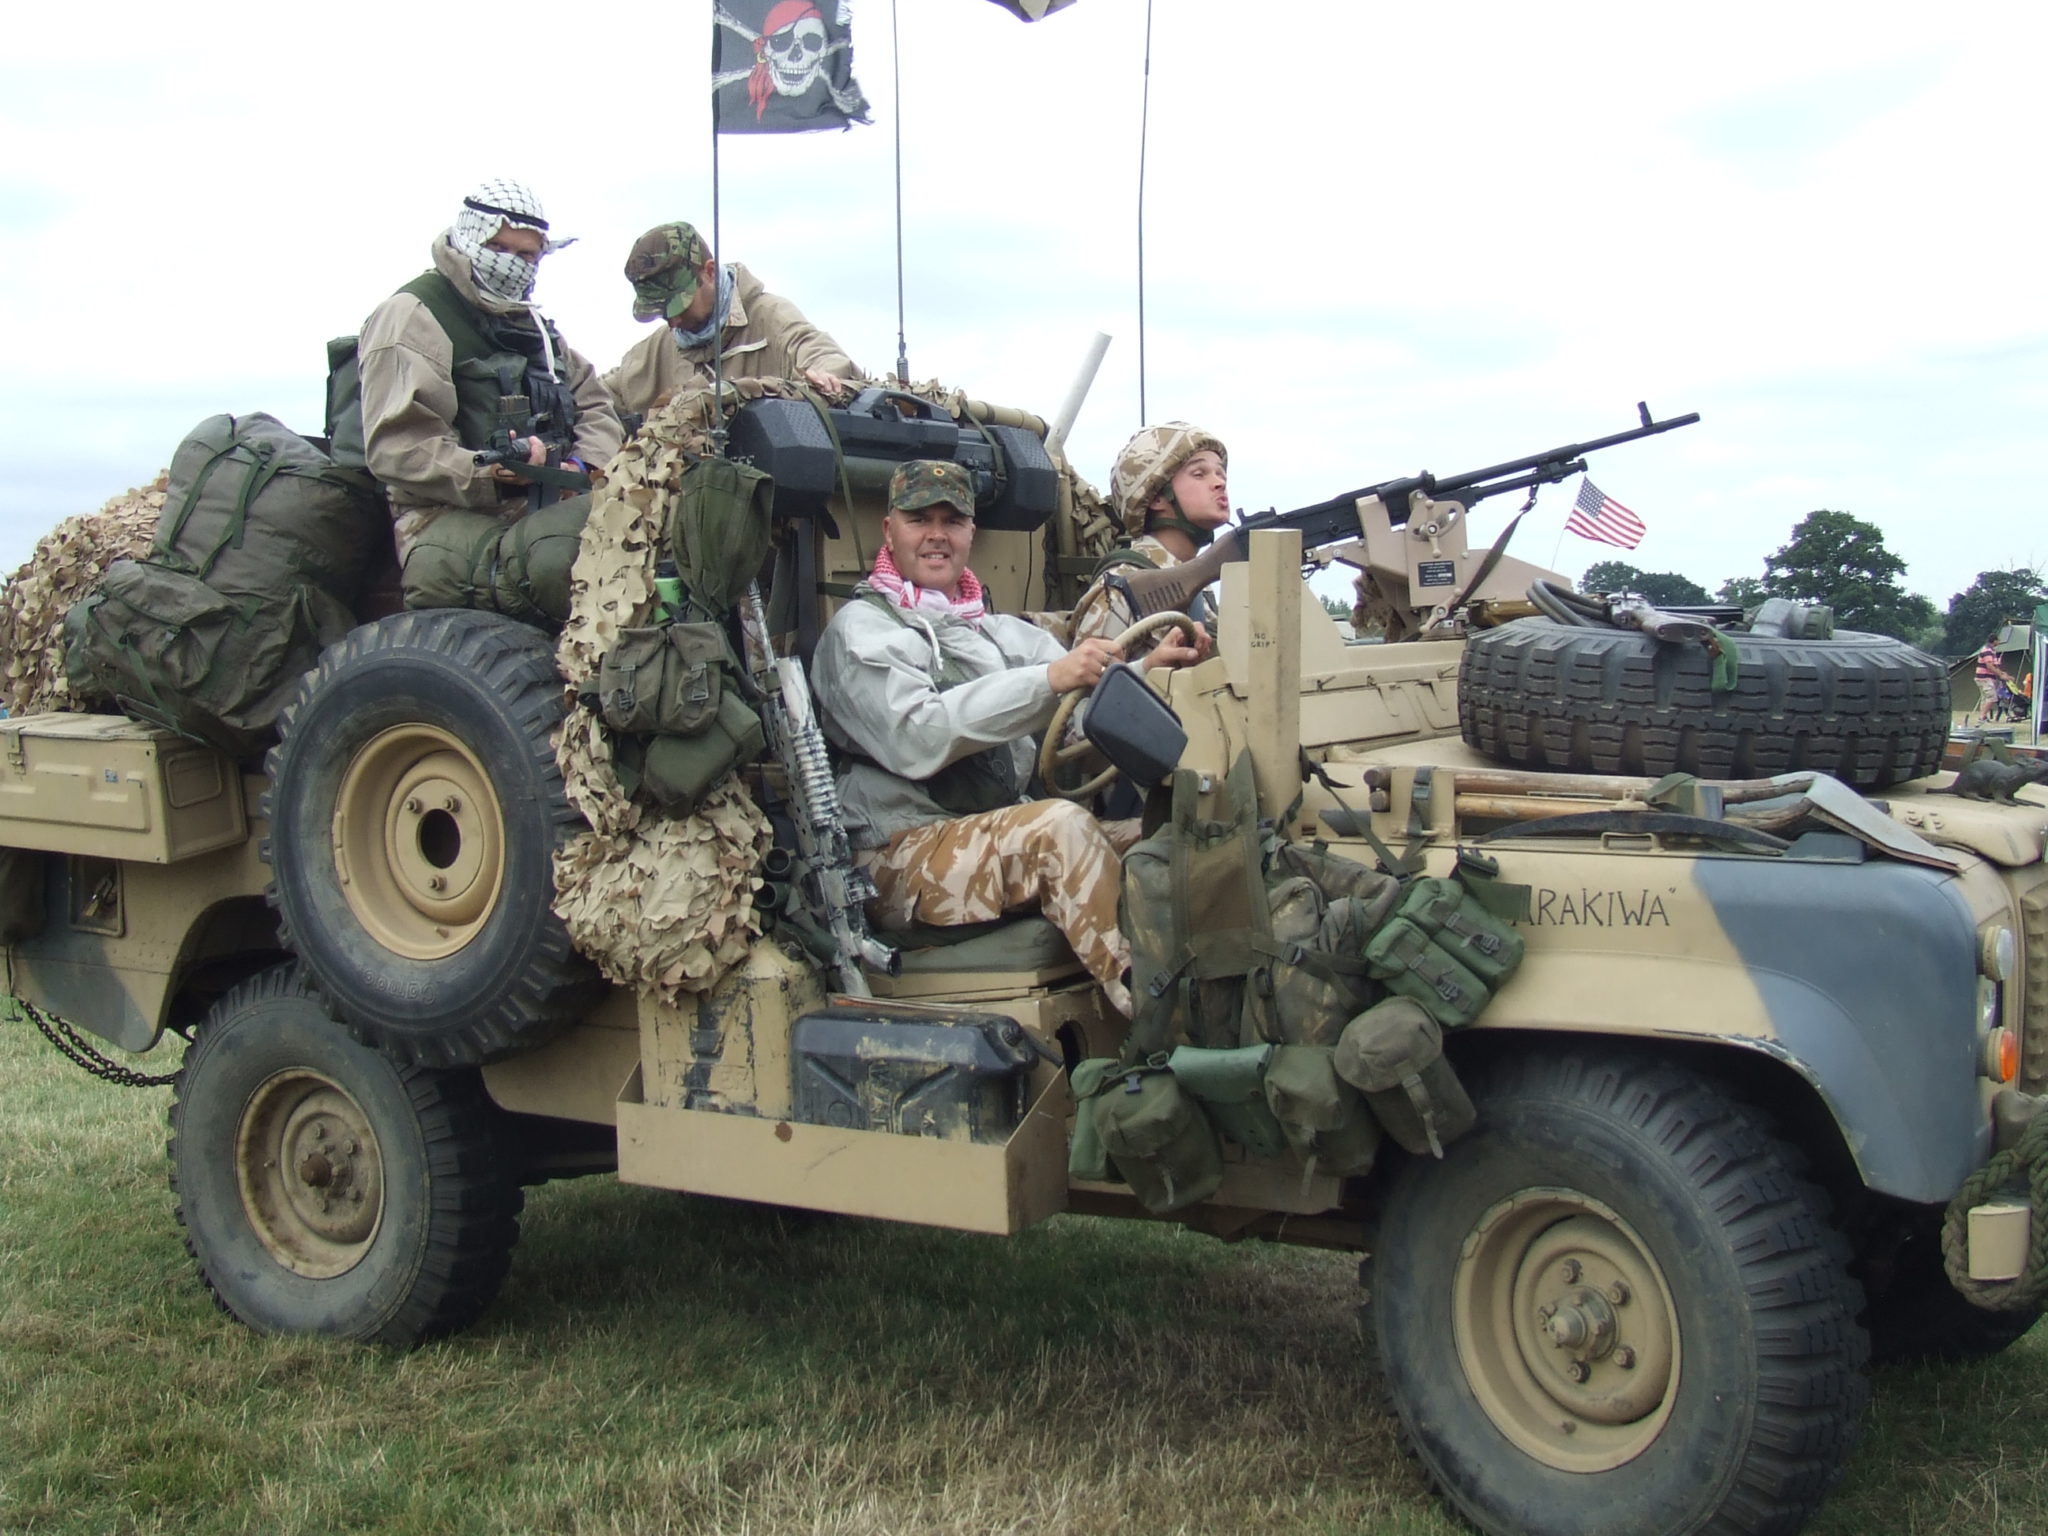
{"label": "grass field beneath and around the vehicle", "polygon": [[[170,1090],[98,1083],[12,1016],[0,1083],[0,1530],[1462,1530],[1372,1411],[1341,1255],[584,1180],[530,1192],[463,1337],[264,1339],[184,1255]],[[2048,1530],[2048,1329],[1880,1372],[1812,1530]]]}

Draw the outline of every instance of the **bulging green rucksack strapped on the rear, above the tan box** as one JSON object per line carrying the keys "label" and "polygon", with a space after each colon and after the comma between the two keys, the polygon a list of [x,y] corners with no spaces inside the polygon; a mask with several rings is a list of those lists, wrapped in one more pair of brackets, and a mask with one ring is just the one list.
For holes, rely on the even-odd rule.
{"label": "bulging green rucksack strapped on the rear, above the tan box", "polygon": [[213,416],[172,455],[150,557],[115,561],[66,612],[72,692],[250,758],[354,627],[379,539],[367,475],[260,412]]}

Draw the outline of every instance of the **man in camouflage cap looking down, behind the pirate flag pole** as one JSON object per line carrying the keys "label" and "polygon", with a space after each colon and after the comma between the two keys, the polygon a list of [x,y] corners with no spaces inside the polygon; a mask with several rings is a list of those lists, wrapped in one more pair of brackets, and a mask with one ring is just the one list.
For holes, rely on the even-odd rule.
{"label": "man in camouflage cap looking down, behind the pirate flag pole", "polygon": [[860,377],[797,305],[768,293],[739,262],[719,266],[694,225],[662,223],[635,240],[627,283],[633,317],[666,324],[604,375],[623,412],[649,412],[682,389],[709,385],[719,356],[727,379],[809,379],[829,395]]}

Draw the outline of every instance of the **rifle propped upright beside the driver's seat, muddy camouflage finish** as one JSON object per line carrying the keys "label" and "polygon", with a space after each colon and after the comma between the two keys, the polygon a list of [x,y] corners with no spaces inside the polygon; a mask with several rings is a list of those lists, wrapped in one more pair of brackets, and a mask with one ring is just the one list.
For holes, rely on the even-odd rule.
{"label": "rifle propped upright beside the driver's seat, muddy camouflage finish", "polygon": [[[756,588],[745,596],[748,618],[766,645],[768,623]],[[772,655],[758,674],[762,731],[788,780],[788,811],[797,827],[791,885],[803,915],[786,922],[805,946],[834,967],[840,991],[870,995],[862,967],[895,975],[901,956],[868,932],[866,903],[874,879],[854,864],[854,850],[840,819],[840,786],[831,776],[825,731],[811,709],[811,682],[803,662]]]}

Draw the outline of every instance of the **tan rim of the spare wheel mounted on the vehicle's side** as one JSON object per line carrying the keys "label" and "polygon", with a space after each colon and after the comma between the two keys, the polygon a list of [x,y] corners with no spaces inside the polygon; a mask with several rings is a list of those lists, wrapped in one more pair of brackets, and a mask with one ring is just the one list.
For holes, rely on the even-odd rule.
{"label": "tan rim of the spare wheel mounted on the vehicle's side", "polygon": [[342,776],[334,866],[348,909],[387,950],[455,954],[504,887],[504,819],[483,764],[432,725],[369,741]]}

